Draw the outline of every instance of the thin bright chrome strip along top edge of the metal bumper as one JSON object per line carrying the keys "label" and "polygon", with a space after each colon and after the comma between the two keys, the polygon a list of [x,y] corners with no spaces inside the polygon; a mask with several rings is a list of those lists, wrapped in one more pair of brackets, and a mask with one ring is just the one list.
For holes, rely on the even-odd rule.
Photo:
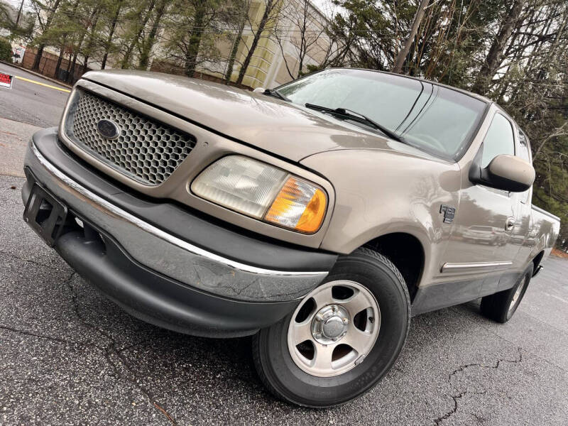
{"label": "thin bright chrome strip along top edge of the metal bumper", "polygon": [[38,158],[41,165],[43,165],[43,167],[45,167],[52,175],[54,175],[55,178],[58,178],[59,180],[64,182],[65,185],[68,185],[73,190],[79,192],[81,195],[88,198],[92,202],[99,204],[99,206],[103,207],[112,214],[115,214],[116,216],[121,217],[121,219],[126,220],[126,222],[129,222],[134,226],[137,226],[139,229],[142,229],[143,231],[146,231],[149,234],[153,234],[154,236],[158,237],[159,239],[162,239],[163,241],[167,241],[168,243],[173,244],[174,246],[178,246],[180,249],[189,251],[190,253],[193,253],[197,256],[208,258],[211,261],[222,263],[226,266],[247,273],[254,273],[261,275],[297,276],[297,277],[306,277],[306,276],[315,277],[317,275],[325,276],[328,273],[328,271],[319,271],[319,272],[274,271],[272,269],[264,269],[264,268],[258,268],[256,266],[246,265],[245,263],[233,261],[231,259],[219,256],[215,253],[211,253],[207,250],[200,249],[200,247],[194,246],[193,244],[190,244],[187,241],[179,239],[176,236],[168,234],[167,232],[162,231],[161,229],[158,229],[151,224],[148,224],[148,222],[144,222],[143,220],[138,219],[138,217],[133,216],[129,212],[126,212],[123,209],[116,207],[114,204],[109,203],[107,200],[104,200],[103,198],[99,197],[93,192],[87,190],[87,188],[75,182],[75,180],[69,178],[67,175],[62,173],[58,168],[55,168],[53,164],[51,164],[48,160],[45,159],[45,157],[43,157],[43,155],[41,155],[40,151],[38,150],[38,148],[35,147],[35,144],[33,142],[31,143],[31,148],[33,154],[35,155],[36,158]]}

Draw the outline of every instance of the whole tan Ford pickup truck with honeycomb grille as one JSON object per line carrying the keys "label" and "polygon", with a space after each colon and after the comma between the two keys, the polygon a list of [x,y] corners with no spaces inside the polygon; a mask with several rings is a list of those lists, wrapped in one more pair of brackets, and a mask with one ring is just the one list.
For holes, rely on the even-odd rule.
{"label": "whole tan Ford pickup truck with honeycomb grille", "polygon": [[26,156],[24,219],[132,315],[253,336],[275,395],[329,407],[393,365],[410,316],[506,322],[559,219],[498,105],[370,70],[255,93],[88,72]]}

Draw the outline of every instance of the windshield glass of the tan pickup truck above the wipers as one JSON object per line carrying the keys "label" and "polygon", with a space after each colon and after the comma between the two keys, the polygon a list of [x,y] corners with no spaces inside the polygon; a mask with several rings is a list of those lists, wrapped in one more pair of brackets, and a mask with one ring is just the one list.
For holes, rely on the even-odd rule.
{"label": "windshield glass of the tan pickup truck above the wipers", "polygon": [[277,91],[295,104],[363,114],[410,145],[454,160],[463,154],[486,107],[456,90],[366,70],[317,72]]}

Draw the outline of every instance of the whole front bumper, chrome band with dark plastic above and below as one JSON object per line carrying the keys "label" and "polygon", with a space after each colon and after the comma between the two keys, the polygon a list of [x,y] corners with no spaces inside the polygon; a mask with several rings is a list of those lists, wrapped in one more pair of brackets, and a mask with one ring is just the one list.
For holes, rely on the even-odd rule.
{"label": "whole front bumper, chrome band with dark plastic above and below", "polygon": [[62,258],[136,317],[179,332],[252,334],[293,310],[337,258],[137,198],[66,151],[55,129],[35,133],[25,167],[24,203],[35,182],[84,223],[55,241]]}

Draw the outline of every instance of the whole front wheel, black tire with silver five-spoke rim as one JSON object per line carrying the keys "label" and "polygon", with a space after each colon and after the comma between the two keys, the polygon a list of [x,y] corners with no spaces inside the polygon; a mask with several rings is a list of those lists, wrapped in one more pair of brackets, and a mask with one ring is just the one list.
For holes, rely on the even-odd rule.
{"label": "whole front wheel, black tire with silver five-spoke rim", "polygon": [[348,402],[378,383],[410,324],[405,281],[387,258],[357,249],[296,310],[253,337],[253,359],[279,398],[316,408]]}

